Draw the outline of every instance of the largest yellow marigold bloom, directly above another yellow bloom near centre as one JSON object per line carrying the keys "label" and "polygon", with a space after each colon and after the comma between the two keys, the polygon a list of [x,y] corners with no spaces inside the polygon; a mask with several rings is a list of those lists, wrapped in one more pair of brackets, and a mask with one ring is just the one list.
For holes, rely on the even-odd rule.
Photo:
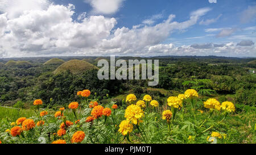
{"label": "largest yellow marigold bloom, directly above another yellow bloom near centre", "polygon": [[131,121],[133,124],[138,123],[138,119],[141,119],[143,116],[144,112],[141,109],[141,107],[131,104],[128,106],[125,110],[125,118],[128,121]]}

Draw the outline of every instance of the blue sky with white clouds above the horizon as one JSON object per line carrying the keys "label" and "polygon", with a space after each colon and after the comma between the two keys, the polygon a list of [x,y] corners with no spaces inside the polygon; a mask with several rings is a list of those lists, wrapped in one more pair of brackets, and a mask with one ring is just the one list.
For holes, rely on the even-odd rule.
{"label": "blue sky with white clouds above the horizon", "polygon": [[0,0],[0,57],[256,57],[255,0]]}

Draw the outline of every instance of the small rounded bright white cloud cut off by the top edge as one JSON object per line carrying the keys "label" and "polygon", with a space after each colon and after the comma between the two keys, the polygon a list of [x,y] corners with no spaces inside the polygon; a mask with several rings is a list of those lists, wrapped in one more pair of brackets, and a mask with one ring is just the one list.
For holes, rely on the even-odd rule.
{"label": "small rounded bright white cloud cut off by the top edge", "polygon": [[85,0],[93,7],[93,11],[100,14],[114,14],[125,0]]}

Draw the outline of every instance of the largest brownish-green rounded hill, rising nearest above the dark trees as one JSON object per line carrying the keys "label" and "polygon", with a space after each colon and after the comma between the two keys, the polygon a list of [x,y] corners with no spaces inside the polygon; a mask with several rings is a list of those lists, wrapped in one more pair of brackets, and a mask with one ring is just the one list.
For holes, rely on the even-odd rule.
{"label": "largest brownish-green rounded hill, rising nearest above the dark trees", "polygon": [[93,64],[83,60],[69,60],[61,64],[56,70],[53,71],[53,74],[63,73],[66,70],[69,70],[73,74],[79,74],[85,70],[98,69]]}

